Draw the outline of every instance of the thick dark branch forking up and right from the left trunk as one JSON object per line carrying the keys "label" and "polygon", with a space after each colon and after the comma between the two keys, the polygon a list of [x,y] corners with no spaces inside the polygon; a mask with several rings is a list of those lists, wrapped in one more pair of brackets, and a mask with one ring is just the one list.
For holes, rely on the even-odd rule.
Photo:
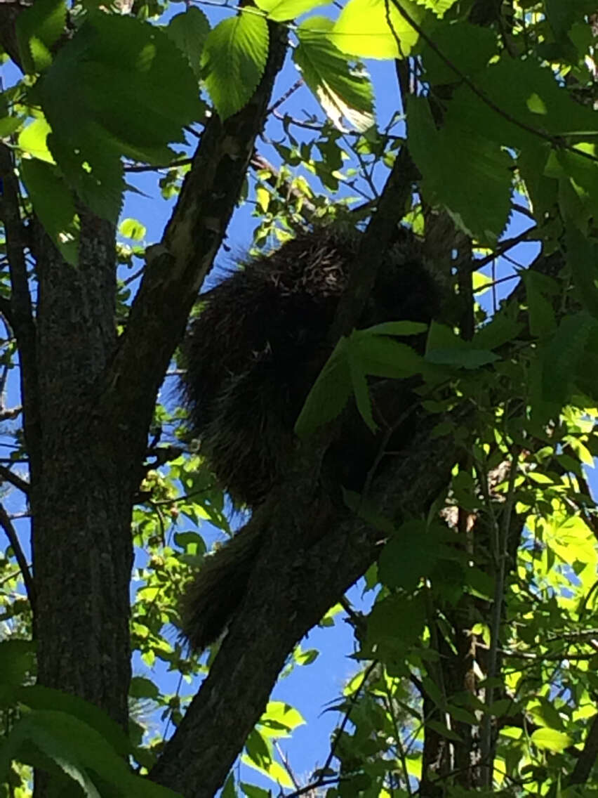
{"label": "thick dark branch forking up and right from the left trunk", "polygon": [[106,416],[119,425],[148,427],[155,393],[238,201],[286,39],[284,28],[270,26],[269,59],[254,97],[234,117],[208,121],[163,239],[148,253],[108,374]]}

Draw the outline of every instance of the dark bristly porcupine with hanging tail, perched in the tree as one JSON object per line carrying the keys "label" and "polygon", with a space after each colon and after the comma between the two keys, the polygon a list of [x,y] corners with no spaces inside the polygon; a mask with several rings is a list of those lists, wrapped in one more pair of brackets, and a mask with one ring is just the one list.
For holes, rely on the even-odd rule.
{"label": "dark bristly porcupine with hanging tail, perched in the tree", "polygon": [[[235,504],[257,507],[285,472],[297,415],[330,354],[329,326],[359,242],[356,231],[318,227],[250,260],[200,296],[205,306],[183,342],[183,398],[191,433]],[[418,239],[399,228],[358,326],[429,322],[437,295]],[[422,344],[415,339],[416,348]],[[413,401],[406,393],[399,411]],[[376,440],[360,420],[363,435],[356,437],[356,411],[345,415],[347,424],[331,448],[332,471],[339,483],[359,489]],[[392,444],[398,448],[400,441]],[[194,649],[226,628],[258,544],[241,533],[204,561],[181,607],[183,634]]]}

